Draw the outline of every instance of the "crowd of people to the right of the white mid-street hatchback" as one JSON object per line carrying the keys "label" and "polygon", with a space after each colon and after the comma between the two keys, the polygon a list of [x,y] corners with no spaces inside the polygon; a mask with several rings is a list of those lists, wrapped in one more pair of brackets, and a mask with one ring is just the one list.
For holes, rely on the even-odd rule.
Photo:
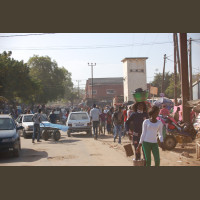
{"label": "crowd of people to the right of the white mid-street hatchback", "polygon": [[[106,106],[104,109],[97,107],[88,111],[93,123],[94,139],[99,134],[113,134],[113,142],[121,144],[121,138],[128,136],[135,149],[135,160],[145,160],[146,166],[151,166],[151,152],[153,153],[155,166],[160,165],[160,155],[157,142],[162,150],[165,150],[163,144],[163,124],[158,120],[158,116],[172,117],[176,122],[180,122],[180,108],[176,112],[170,112],[167,106],[163,104],[161,108],[152,106],[151,109],[145,102],[137,102],[130,106],[120,106],[118,108]],[[195,113],[191,111],[191,123],[194,122]],[[142,154],[141,154],[142,147]],[[143,155],[143,156],[142,156]]]}

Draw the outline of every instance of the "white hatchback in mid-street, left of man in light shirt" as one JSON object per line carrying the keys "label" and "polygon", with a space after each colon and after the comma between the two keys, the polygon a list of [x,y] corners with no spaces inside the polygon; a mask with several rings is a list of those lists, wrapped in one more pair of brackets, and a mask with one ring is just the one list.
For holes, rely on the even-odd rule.
{"label": "white hatchback in mid-street, left of man in light shirt", "polygon": [[88,135],[92,134],[91,121],[87,112],[71,112],[66,122],[69,127],[67,131],[68,137],[73,132],[86,132]]}

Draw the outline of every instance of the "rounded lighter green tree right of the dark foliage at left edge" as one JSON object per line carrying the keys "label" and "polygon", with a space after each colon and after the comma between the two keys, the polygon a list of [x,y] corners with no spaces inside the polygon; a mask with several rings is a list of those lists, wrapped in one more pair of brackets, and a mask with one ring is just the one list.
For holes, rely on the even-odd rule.
{"label": "rounded lighter green tree right of the dark foliage at left edge", "polygon": [[49,56],[34,55],[28,61],[30,75],[41,84],[41,92],[37,95],[37,103],[47,103],[64,98],[73,86],[71,73],[64,67],[59,68],[56,61]]}

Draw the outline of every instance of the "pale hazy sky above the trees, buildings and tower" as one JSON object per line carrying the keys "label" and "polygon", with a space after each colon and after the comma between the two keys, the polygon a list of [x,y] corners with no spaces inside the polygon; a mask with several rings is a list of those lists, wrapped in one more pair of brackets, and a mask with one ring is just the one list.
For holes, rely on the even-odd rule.
{"label": "pale hazy sky above the trees, buildings and tower", "polygon": [[[187,38],[190,37],[195,40],[192,41],[195,74],[200,72],[200,33],[188,33]],[[0,53],[12,51],[12,57],[19,61],[27,62],[34,55],[49,56],[59,67],[71,72],[75,87],[79,81],[83,89],[91,78],[88,63],[96,63],[94,78],[123,77],[121,61],[125,57],[148,57],[147,82],[151,82],[155,73],[162,73],[166,54],[169,60],[165,69],[174,70],[173,33],[0,33],[0,44]]]}

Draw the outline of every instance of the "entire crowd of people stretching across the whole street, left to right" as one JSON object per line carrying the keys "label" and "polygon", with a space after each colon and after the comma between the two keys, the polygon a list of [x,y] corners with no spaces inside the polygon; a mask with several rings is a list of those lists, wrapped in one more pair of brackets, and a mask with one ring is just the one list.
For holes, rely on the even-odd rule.
{"label": "entire crowd of people stretching across the whole street, left to right", "polygon": [[[59,111],[59,112],[58,112]],[[5,106],[4,110],[0,110],[1,114],[12,114],[16,119],[19,114],[34,114],[34,133],[32,141],[34,143],[36,132],[40,129],[41,113],[46,114],[48,120],[56,124],[57,120],[61,124],[65,124],[70,112],[86,111],[88,112],[93,128],[94,139],[97,140],[100,134],[113,136],[113,142],[118,140],[121,144],[122,137],[128,136],[135,149],[135,160],[145,160],[146,166],[151,166],[151,152],[154,156],[155,166],[160,165],[160,155],[157,143],[157,135],[160,140],[160,147],[164,149],[163,145],[163,124],[158,120],[158,116],[173,117],[176,122],[180,122],[180,108],[177,107],[176,112],[172,113],[165,104],[162,108],[152,106],[150,109],[145,102],[137,102],[129,106],[104,108],[98,107],[96,104],[92,108],[69,108],[61,110],[55,108],[47,108],[45,105],[25,107],[23,110],[19,108],[8,108]],[[57,112],[57,113],[56,113]],[[191,123],[194,122],[195,112],[190,113]],[[38,131],[40,132],[40,130]],[[40,134],[37,136],[37,141],[40,142]],[[142,147],[142,153],[141,153]]]}

